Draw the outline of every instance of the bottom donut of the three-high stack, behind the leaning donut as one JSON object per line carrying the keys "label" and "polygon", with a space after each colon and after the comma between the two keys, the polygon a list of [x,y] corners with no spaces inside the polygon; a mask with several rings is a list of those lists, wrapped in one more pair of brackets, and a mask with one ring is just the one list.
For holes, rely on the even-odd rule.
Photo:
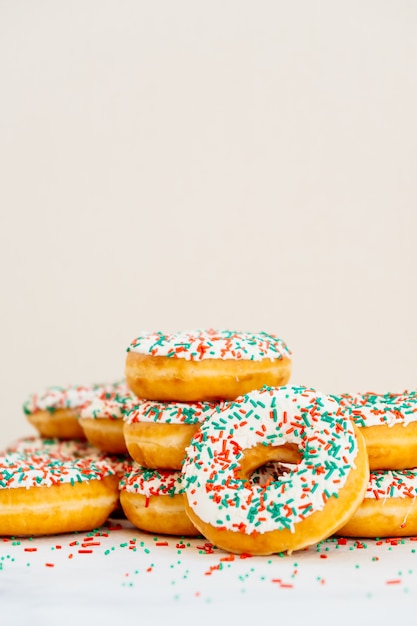
{"label": "bottom donut of the three-high stack, behind the leaning donut", "polygon": [[196,536],[184,507],[181,472],[135,465],[120,481],[120,504],[140,530],[165,535]]}

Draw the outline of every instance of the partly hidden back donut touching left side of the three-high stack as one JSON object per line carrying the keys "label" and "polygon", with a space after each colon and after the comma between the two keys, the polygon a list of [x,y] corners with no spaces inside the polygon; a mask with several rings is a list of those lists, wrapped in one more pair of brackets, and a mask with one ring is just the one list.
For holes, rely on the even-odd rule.
{"label": "partly hidden back donut touching left side of the three-high stack", "polygon": [[103,452],[127,454],[123,418],[137,402],[127,385],[105,390],[86,402],[79,421],[88,441]]}

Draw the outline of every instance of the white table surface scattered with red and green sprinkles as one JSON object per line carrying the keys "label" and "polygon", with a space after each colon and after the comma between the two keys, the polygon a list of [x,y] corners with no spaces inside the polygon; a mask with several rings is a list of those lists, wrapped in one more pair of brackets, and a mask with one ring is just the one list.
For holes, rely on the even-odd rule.
{"label": "white table surface scattered with red and green sprinkles", "polygon": [[117,519],[88,533],[0,538],[1,623],[414,624],[416,539],[233,556]]}

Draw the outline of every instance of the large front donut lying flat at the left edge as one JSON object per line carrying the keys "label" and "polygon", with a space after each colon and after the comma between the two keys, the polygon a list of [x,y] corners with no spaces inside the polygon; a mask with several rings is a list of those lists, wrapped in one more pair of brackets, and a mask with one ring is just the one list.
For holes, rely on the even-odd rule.
{"label": "large front donut lying flat at the left edge", "polygon": [[93,530],[119,503],[111,464],[39,450],[0,456],[0,535]]}

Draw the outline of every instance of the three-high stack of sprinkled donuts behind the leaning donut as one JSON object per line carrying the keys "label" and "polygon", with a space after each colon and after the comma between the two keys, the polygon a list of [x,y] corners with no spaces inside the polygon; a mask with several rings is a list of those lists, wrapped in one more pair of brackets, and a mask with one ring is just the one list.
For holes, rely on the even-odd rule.
{"label": "three-high stack of sprinkled donuts behind the leaning donut", "polygon": [[136,462],[121,481],[120,502],[138,528],[197,535],[186,514],[182,466],[201,425],[228,401],[288,382],[290,352],[267,333],[147,333],[130,344],[126,381],[140,399],[125,418],[124,437]]}

